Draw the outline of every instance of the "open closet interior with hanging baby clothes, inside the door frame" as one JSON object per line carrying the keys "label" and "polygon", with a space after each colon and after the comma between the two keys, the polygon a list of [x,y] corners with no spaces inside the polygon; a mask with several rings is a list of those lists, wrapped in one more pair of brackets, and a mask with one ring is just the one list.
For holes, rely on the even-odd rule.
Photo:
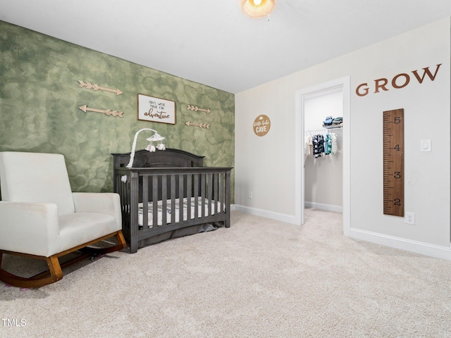
{"label": "open closet interior with hanging baby clothes, inside the door frame", "polygon": [[304,208],[342,212],[342,117],[342,87],[305,96]]}

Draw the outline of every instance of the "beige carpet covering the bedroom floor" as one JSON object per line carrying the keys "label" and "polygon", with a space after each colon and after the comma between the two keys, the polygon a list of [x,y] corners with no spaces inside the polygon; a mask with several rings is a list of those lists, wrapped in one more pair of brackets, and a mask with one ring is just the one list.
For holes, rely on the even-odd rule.
{"label": "beige carpet covering the bedroom floor", "polygon": [[338,213],[307,209],[297,227],[233,212],[230,229],[84,261],[41,289],[0,282],[0,337],[451,337],[450,261],[341,233]]}

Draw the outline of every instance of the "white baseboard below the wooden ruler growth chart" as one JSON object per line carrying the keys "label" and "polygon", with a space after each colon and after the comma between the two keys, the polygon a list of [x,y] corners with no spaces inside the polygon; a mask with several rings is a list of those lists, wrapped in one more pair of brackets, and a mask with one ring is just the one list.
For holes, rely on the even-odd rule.
{"label": "white baseboard below the wooden ruler growth chart", "polygon": [[351,227],[350,237],[353,239],[361,239],[362,241],[390,246],[391,248],[401,249],[421,255],[442,258],[451,261],[451,247],[429,244],[414,241],[400,237],[389,236],[387,234],[379,234],[366,230],[359,230]]}

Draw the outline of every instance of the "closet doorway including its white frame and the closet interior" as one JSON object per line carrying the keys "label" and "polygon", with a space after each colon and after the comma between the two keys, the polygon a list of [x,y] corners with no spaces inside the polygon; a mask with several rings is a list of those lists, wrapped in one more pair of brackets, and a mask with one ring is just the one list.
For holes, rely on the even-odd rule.
{"label": "closet doorway including its white frame and the closet interior", "polygon": [[[347,234],[350,230],[349,115],[349,77],[296,93],[299,224],[304,224],[304,208],[315,208],[341,212],[343,232]],[[324,123],[328,117],[342,118],[342,123],[335,120],[335,125],[328,125]]]}

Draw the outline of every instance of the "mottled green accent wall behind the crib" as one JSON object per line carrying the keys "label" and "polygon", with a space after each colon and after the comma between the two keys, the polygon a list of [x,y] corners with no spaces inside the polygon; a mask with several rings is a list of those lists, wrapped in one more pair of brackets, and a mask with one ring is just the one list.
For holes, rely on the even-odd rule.
{"label": "mottled green accent wall behind the crib", "polygon": [[[0,151],[63,154],[74,192],[112,192],[111,153],[129,152],[144,127],[166,137],[166,147],[205,156],[204,165],[234,166],[235,96],[228,92],[2,21],[0,79]],[[123,94],[80,88],[79,80]],[[175,125],[137,120],[137,94],[175,101]],[[123,111],[123,118],[85,113],[84,105]],[[141,132],[137,149],[151,135]]]}

